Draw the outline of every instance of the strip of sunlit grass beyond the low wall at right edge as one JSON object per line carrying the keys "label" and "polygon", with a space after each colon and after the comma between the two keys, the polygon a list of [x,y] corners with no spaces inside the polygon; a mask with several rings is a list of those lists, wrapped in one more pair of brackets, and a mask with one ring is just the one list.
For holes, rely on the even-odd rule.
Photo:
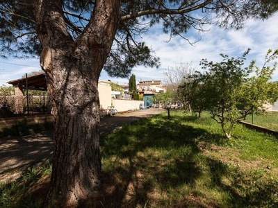
{"label": "strip of sunlit grass beyond the low wall at right edge", "polygon": [[245,122],[278,131],[278,112],[253,113],[247,116]]}

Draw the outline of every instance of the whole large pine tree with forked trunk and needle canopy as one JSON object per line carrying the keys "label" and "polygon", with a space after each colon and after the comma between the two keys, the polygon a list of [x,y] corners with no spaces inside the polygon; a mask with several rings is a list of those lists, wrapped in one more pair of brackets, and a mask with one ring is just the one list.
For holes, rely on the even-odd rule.
{"label": "whole large pine tree with forked trunk and needle canopy", "polygon": [[191,26],[203,31],[212,19],[240,28],[245,19],[275,10],[277,2],[257,0],[0,1],[1,56],[40,55],[46,73],[55,128],[47,204],[74,207],[99,189],[99,75],[104,69],[126,77],[137,65],[158,67],[138,37],[156,24],[171,38],[183,37]]}

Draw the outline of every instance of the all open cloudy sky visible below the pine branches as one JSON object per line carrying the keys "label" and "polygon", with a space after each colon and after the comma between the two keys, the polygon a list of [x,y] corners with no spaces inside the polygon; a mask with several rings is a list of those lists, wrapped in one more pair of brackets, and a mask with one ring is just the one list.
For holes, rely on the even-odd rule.
{"label": "all open cloudy sky visible below the pine branches", "polygon": [[[240,31],[224,30],[217,26],[207,26],[207,33],[198,33],[190,30],[186,38],[190,42],[202,39],[191,46],[181,37],[175,37],[170,42],[169,35],[161,33],[161,29],[151,28],[149,33],[142,38],[148,46],[151,46],[156,55],[161,58],[161,67],[152,69],[136,67],[132,73],[136,80],[164,80],[163,71],[168,67],[176,67],[180,64],[192,62],[193,67],[199,69],[199,61],[206,58],[209,61],[220,62],[220,53],[238,58],[248,48],[246,64],[256,60],[256,65],[261,67],[268,49],[278,49],[278,12],[265,21],[250,19]],[[278,60],[277,60],[278,61]],[[9,64],[7,64],[9,63]],[[22,66],[24,65],[24,66]],[[0,85],[7,85],[9,80],[21,78],[25,73],[40,70],[39,60],[0,59]],[[114,83],[128,84],[128,78],[110,78],[105,71],[101,73],[100,80],[112,80]],[[278,80],[278,69],[273,80]]]}

